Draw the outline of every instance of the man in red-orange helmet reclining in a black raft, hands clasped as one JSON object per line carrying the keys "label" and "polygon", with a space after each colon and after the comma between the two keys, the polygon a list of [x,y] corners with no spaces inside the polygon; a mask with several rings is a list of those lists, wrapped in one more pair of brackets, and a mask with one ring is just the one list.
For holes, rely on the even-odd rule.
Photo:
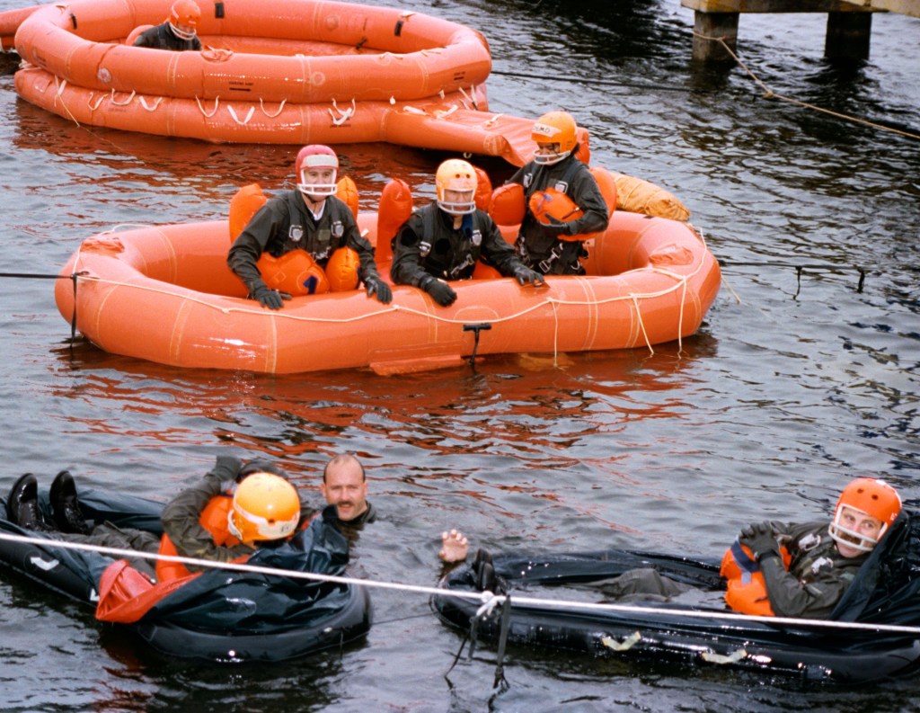
{"label": "man in red-orange helmet reclining in a black raft, hands clasped", "polygon": [[[765,521],[745,528],[722,560],[726,602],[742,614],[829,616],[900,512],[901,498],[891,485],[857,478],[841,493],[830,524]],[[443,532],[442,545],[445,562],[466,559],[468,543],[460,532]],[[477,572],[484,589],[500,589],[488,553],[480,550],[476,564],[485,570]],[[630,600],[667,601],[690,589],[651,568],[604,582],[604,593]]]}

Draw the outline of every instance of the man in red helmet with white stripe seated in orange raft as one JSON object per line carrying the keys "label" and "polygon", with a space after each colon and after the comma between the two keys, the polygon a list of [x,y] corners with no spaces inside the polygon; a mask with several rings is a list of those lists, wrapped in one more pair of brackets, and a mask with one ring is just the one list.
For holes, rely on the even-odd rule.
{"label": "man in red helmet with white stripe seated in orange raft", "polygon": [[[348,289],[362,283],[368,297],[384,304],[392,300],[390,286],[377,272],[374,247],[362,236],[351,208],[336,195],[338,172],[339,157],[328,146],[301,148],[294,161],[297,190],[282,191],[266,201],[230,247],[227,264],[262,307],[281,310],[292,296],[328,291],[327,268],[344,253],[355,258],[343,261],[351,275]],[[273,263],[260,258],[282,258],[293,251],[303,251],[307,265],[289,276],[285,289],[270,287],[266,278],[271,276],[262,270],[270,270]],[[335,276],[337,282],[347,282],[348,275]]]}

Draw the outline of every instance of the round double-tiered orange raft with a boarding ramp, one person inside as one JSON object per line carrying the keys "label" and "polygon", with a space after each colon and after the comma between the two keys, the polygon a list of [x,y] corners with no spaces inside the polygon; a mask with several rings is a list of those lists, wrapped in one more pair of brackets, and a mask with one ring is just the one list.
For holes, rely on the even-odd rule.
{"label": "round double-tiered orange raft with a boarding ramp, one person inside", "polygon": [[390,7],[233,0],[201,4],[202,52],[125,43],[167,6],[74,0],[3,14],[0,28],[18,27],[17,93],[77,123],[148,134],[530,158],[533,121],[487,111],[491,59],[474,29]]}

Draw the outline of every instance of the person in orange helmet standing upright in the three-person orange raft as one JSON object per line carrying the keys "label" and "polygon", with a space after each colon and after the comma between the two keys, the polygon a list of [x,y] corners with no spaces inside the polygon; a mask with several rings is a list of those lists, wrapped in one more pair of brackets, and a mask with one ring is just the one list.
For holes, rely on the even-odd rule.
{"label": "person in orange helmet standing upright in the three-person orange raft", "polygon": [[[526,208],[514,247],[524,264],[543,275],[584,275],[580,259],[584,250],[571,236],[604,230],[610,215],[604,196],[591,171],[575,156],[578,126],[565,111],[550,111],[534,124],[534,159],[509,179],[523,186]],[[531,196],[554,189],[581,208],[581,217],[560,221],[546,216],[538,220],[531,209]],[[565,240],[569,238],[569,240]]]}

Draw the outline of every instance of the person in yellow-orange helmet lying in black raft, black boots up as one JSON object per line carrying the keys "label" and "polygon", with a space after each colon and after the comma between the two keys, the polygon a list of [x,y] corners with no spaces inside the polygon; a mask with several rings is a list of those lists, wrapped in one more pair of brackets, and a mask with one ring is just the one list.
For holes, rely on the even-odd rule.
{"label": "person in yellow-orange helmet lying in black raft, black boots up", "polygon": [[[54,478],[50,499],[52,521],[45,520],[39,507],[35,475],[25,473],[6,499],[6,518],[27,530],[53,533],[71,542],[215,562],[230,562],[258,547],[286,542],[305,526],[311,512],[287,475],[271,463],[244,464],[226,456],[218,457],[209,473],[163,508],[162,538],[110,522],[90,528],[80,509],[74,477],[67,471]],[[163,560],[154,567],[147,559],[132,560],[131,565],[161,581],[200,569]]]}

